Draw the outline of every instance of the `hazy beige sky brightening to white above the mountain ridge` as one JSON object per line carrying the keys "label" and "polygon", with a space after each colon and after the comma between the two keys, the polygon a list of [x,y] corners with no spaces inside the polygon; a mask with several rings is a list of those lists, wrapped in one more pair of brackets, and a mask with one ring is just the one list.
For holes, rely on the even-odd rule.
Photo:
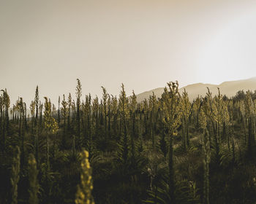
{"label": "hazy beige sky brightening to white above the mountain ridge", "polygon": [[142,93],[256,76],[256,1],[0,0],[0,89],[12,103]]}

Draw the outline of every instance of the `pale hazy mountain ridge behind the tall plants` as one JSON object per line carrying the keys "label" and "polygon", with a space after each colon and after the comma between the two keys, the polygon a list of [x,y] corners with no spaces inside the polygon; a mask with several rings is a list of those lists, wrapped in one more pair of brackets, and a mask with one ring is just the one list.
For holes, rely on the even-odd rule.
{"label": "pale hazy mountain ridge behind the tall plants", "polygon": [[[207,92],[207,87],[210,89],[213,95],[216,95],[218,92],[218,87],[222,95],[227,95],[227,97],[232,97],[236,95],[238,90],[256,90],[256,77],[250,79],[243,79],[237,81],[230,81],[230,82],[222,82],[220,85],[211,85],[211,84],[203,84],[203,83],[196,83],[192,85],[187,85],[185,87],[181,87],[179,89],[180,93],[186,89],[187,93],[189,94],[189,100],[193,101],[197,98],[197,95],[205,96]],[[150,95],[154,94],[157,98],[160,98],[162,93],[164,93],[164,88],[159,87],[154,90],[149,90],[137,95],[137,101],[140,103],[145,98],[148,99]]]}

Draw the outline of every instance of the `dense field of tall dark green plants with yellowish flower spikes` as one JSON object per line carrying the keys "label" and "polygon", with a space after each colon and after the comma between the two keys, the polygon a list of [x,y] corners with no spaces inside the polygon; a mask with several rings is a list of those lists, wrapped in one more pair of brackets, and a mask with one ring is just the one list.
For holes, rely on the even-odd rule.
{"label": "dense field of tall dark green plants with yellowish flower spikes", "polygon": [[0,203],[256,202],[255,93],[189,101],[170,82],[138,103],[77,82],[57,108],[1,90]]}

